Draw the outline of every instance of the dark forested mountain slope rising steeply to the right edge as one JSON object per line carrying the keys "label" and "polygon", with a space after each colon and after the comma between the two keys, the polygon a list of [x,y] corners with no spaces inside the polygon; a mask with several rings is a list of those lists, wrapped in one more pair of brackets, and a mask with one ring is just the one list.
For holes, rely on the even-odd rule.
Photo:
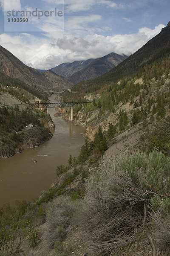
{"label": "dark forested mountain slope rising steeply to the right edge", "polygon": [[[169,23],[168,23],[169,24]],[[119,65],[114,67],[108,73],[99,76],[90,81],[83,81],[71,88],[75,93],[63,94],[74,98],[85,96],[87,93],[95,92],[101,87],[106,87],[108,84],[118,82],[120,79],[129,76],[150,76],[152,79],[156,74],[162,73],[161,69],[169,64],[170,56],[170,25],[161,30],[154,38],[150,39],[142,48],[130,55]],[[69,99],[69,100],[70,100]]]}

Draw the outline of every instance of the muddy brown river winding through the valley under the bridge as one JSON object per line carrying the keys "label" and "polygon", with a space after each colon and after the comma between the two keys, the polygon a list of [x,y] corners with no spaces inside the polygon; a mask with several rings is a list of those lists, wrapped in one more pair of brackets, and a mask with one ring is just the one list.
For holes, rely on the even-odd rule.
{"label": "muddy brown river winding through the valley under the bridge", "polygon": [[[51,96],[51,102],[55,102]],[[54,181],[58,165],[68,165],[68,157],[77,157],[85,140],[85,128],[55,117],[54,108],[48,108],[55,124],[53,137],[37,148],[24,149],[10,158],[0,158],[0,206],[17,201],[31,201]],[[31,160],[37,160],[33,163]]]}

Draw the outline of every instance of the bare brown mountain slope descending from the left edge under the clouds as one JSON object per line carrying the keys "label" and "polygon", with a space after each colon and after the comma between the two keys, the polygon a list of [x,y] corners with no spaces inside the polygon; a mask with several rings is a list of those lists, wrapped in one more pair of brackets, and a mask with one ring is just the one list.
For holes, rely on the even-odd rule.
{"label": "bare brown mountain slope descending from the left edge under the clouds", "polygon": [[64,83],[64,78],[62,79],[62,84],[60,84],[58,76],[55,74],[53,74],[53,82],[51,83],[44,73],[26,66],[2,46],[0,46],[0,73],[2,73],[3,76],[18,79],[40,92],[42,92],[42,90],[45,92],[58,90],[58,88],[61,88],[62,86],[64,89],[67,89],[72,86],[68,81]]}

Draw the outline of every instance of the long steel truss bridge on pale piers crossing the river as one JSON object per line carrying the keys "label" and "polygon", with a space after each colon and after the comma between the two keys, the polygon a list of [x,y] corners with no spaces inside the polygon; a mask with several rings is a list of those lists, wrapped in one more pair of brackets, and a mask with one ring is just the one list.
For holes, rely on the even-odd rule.
{"label": "long steel truss bridge on pale piers crossing the river", "polygon": [[30,105],[32,108],[43,108],[45,112],[48,112],[48,108],[70,108],[70,115],[69,120],[73,121],[73,107],[83,107],[83,105],[88,105],[91,102],[50,102],[50,103],[27,103],[27,104],[11,104],[11,105],[3,105],[3,107],[10,107],[10,106],[19,106],[19,105]]}

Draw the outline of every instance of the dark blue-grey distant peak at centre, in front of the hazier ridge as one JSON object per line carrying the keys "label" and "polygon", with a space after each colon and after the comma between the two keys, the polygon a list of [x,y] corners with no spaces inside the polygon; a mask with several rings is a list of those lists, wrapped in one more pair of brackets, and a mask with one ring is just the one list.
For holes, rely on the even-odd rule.
{"label": "dark blue-grey distant peak at centre, in front of the hazier ridge", "polygon": [[113,67],[116,67],[119,63],[124,61],[127,58],[126,55],[119,55],[114,52],[110,54],[98,58],[92,61],[88,66],[83,68],[80,71],[77,71],[72,76],[69,77],[69,80],[77,84],[79,81],[86,81],[90,79],[94,79],[102,74],[107,73]]}

